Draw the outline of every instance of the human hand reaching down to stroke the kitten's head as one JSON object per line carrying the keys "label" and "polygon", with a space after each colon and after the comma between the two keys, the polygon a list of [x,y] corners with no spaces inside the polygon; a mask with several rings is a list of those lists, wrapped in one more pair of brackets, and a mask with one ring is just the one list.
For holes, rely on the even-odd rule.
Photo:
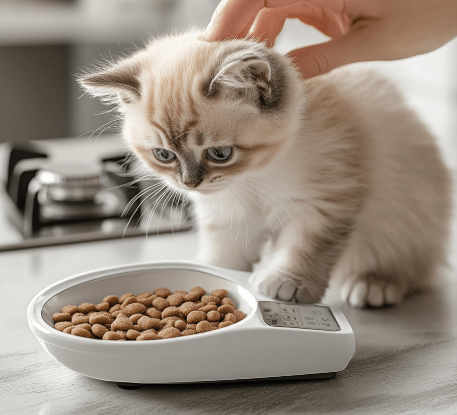
{"label": "human hand reaching down to stroke the kitten's head", "polygon": [[223,0],[206,40],[255,37],[273,46],[287,18],[330,41],[289,52],[304,77],[353,62],[402,59],[457,36],[455,0]]}

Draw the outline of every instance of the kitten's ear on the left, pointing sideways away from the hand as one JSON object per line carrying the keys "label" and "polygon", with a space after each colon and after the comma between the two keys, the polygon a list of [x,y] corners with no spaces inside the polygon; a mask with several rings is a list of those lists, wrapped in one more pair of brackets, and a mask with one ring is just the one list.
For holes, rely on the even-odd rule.
{"label": "kitten's ear on the left, pointing sideways away from the hand", "polygon": [[131,104],[141,97],[138,71],[113,66],[100,72],[80,76],[79,84],[99,97],[117,96],[124,104]]}

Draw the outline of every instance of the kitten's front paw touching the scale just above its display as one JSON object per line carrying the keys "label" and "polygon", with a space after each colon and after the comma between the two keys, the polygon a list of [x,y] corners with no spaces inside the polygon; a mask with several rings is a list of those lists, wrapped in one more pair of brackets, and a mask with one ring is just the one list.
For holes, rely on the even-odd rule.
{"label": "kitten's front paw touching the scale just above its display", "polygon": [[319,301],[323,295],[322,290],[316,289],[316,287],[312,290],[309,287],[300,286],[300,283],[277,270],[255,271],[249,278],[249,283],[260,294],[282,301],[295,300],[299,303],[314,303]]}

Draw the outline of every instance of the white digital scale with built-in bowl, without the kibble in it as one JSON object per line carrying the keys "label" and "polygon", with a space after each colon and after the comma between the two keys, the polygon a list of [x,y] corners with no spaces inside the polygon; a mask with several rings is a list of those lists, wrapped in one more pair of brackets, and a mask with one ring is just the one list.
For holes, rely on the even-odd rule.
{"label": "white digital scale with built-in bowl, without the kibble in it", "polygon": [[[133,388],[150,383],[281,381],[332,378],[355,352],[343,313],[324,304],[276,301],[250,291],[249,273],[191,262],[135,264],[71,277],[31,301],[29,326],[63,366]],[[109,294],[167,287],[210,293],[224,288],[246,318],[191,336],[154,341],[103,341],[53,328],[52,314],[67,304],[99,303]]]}

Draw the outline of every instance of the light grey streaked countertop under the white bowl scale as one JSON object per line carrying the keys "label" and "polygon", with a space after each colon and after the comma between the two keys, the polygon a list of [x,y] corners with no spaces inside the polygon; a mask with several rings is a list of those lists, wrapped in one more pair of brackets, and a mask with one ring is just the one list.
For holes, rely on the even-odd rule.
{"label": "light grey streaked countertop under the white bowl scale", "polygon": [[348,367],[328,380],[123,390],[53,361],[28,327],[29,302],[58,280],[123,264],[192,260],[196,251],[196,235],[187,231],[0,254],[2,414],[457,413],[455,270],[399,306],[377,310],[350,308],[331,286],[323,302],[346,315],[356,351]]}

